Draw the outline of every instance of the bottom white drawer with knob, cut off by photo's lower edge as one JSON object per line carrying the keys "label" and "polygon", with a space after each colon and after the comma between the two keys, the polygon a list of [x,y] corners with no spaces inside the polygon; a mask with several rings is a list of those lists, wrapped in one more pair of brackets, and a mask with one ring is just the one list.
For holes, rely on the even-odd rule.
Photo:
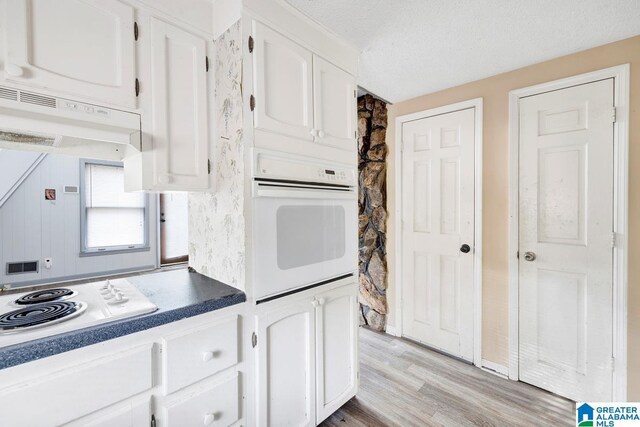
{"label": "bottom white drawer with knob, cut off by photo's lower edge", "polygon": [[229,426],[238,421],[240,397],[238,374],[183,400],[162,407],[167,427]]}

